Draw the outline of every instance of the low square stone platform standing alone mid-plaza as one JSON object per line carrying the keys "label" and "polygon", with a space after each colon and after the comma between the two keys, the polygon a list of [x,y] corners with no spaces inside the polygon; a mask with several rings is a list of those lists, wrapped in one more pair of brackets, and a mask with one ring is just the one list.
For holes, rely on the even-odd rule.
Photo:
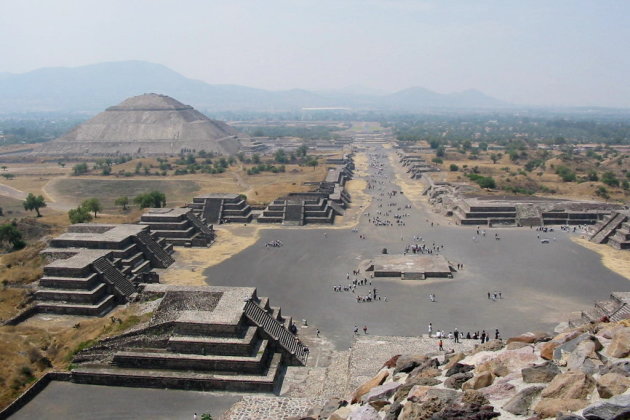
{"label": "low square stone platform standing alone mid-plaza", "polygon": [[450,264],[442,255],[379,255],[368,264],[374,277],[400,277],[402,280],[424,280],[428,277],[453,278]]}

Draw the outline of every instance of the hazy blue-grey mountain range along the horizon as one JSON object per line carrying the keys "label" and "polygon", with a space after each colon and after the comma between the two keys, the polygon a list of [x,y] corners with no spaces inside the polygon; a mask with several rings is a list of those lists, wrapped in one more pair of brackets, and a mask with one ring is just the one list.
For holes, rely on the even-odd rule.
{"label": "hazy blue-grey mountain range along the horizon", "polygon": [[96,113],[130,96],[156,92],[208,111],[291,111],[304,107],[413,112],[427,108],[495,108],[507,104],[475,90],[439,94],[409,88],[376,94],[352,86],[337,91],[268,91],[238,85],[211,85],[160,64],[123,61],[75,68],[0,73],[0,112]]}

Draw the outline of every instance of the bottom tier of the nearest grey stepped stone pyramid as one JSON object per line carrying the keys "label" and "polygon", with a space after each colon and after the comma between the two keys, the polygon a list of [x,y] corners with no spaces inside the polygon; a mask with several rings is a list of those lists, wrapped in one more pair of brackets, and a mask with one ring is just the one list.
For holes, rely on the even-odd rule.
{"label": "bottom tier of the nearest grey stepped stone pyramid", "polygon": [[146,370],[110,366],[81,366],[72,370],[76,383],[171,388],[197,391],[274,392],[282,372],[282,356],[275,353],[261,375],[221,375],[181,370]]}

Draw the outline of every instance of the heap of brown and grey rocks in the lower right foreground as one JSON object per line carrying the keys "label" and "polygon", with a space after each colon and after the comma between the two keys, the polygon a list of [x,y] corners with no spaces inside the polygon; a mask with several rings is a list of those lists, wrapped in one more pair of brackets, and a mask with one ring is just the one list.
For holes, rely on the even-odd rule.
{"label": "heap of brown and grey rocks in the lower right foreground", "polygon": [[437,357],[393,355],[347,400],[330,400],[312,418],[630,419],[627,324],[529,332]]}

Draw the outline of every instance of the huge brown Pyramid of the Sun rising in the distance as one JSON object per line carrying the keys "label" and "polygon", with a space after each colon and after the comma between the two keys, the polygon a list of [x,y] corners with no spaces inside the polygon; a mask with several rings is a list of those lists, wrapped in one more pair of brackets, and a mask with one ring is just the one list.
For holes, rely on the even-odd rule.
{"label": "huge brown Pyramid of the Sun rising in the distance", "polygon": [[238,152],[238,132],[193,107],[148,93],[107,108],[42,146],[47,155],[166,155],[201,151]]}

